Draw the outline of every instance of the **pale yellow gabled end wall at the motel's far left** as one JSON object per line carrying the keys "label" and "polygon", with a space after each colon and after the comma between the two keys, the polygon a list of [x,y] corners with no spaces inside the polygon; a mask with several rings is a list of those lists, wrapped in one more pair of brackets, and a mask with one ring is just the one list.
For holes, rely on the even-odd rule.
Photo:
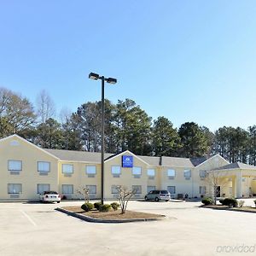
{"label": "pale yellow gabled end wall at the motel's far left", "polygon": [[[13,144],[13,145],[12,145]],[[9,160],[21,160],[22,171],[11,175],[8,170]],[[38,161],[48,161],[50,172],[41,176],[38,172]],[[38,200],[38,183],[47,183],[52,190],[58,190],[58,160],[43,150],[26,143],[19,137],[10,137],[0,143],[0,200],[11,200],[8,194],[9,183],[21,183],[22,193],[19,200]]]}

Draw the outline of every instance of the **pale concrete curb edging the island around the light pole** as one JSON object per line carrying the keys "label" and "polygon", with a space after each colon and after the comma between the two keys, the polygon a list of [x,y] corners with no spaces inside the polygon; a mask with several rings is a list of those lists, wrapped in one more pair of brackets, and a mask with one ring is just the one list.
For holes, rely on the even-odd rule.
{"label": "pale concrete curb edging the island around the light pole", "polygon": [[143,221],[157,221],[157,220],[165,220],[166,216],[163,218],[131,218],[131,219],[102,219],[102,218],[91,218],[89,216],[85,216],[80,213],[70,212],[61,207],[55,208],[56,211],[64,212],[67,215],[73,216],[75,218],[80,218],[88,222],[93,223],[128,223],[128,222],[143,222]]}

